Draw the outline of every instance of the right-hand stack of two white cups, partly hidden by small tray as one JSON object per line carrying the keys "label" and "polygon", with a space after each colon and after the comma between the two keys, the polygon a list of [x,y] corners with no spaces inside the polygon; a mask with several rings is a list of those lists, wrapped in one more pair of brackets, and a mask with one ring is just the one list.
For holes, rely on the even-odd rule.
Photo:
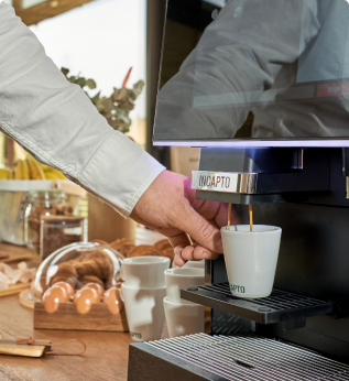
{"label": "right-hand stack of two white cups, partly hidden by small tray", "polygon": [[203,333],[204,306],[181,298],[181,289],[205,284],[205,270],[168,269],[165,271],[165,282],[167,296],[164,297],[164,307],[170,337]]}

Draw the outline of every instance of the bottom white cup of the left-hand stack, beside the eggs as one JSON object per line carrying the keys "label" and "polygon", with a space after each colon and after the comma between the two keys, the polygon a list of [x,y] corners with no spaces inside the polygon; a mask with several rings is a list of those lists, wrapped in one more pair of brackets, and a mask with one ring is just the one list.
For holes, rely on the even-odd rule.
{"label": "bottom white cup of the left-hand stack, beside the eggs", "polygon": [[131,338],[134,341],[159,340],[165,322],[163,300],[166,287],[132,287],[122,283],[121,300]]}

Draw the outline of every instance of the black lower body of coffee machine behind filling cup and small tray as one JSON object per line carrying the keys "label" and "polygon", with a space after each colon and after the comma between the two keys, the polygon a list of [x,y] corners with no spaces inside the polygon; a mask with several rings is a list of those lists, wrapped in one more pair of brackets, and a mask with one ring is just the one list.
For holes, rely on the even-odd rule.
{"label": "black lower body of coffee machine behind filling cup and small tray", "polygon": [[[246,207],[244,207],[246,208]],[[254,205],[255,222],[283,229],[274,287],[319,300],[349,295],[349,209],[321,205]],[[246,210],[242,221],[248,222]],[[212,283],[227,281],[223,258],[212,263]],[[229,315],[212,312],[212,333],[235,330]],[[324,351],[349,363],[349,319],[310,317],[305,328],[284,330],[282,324],[258,326],[258,331]]]}

